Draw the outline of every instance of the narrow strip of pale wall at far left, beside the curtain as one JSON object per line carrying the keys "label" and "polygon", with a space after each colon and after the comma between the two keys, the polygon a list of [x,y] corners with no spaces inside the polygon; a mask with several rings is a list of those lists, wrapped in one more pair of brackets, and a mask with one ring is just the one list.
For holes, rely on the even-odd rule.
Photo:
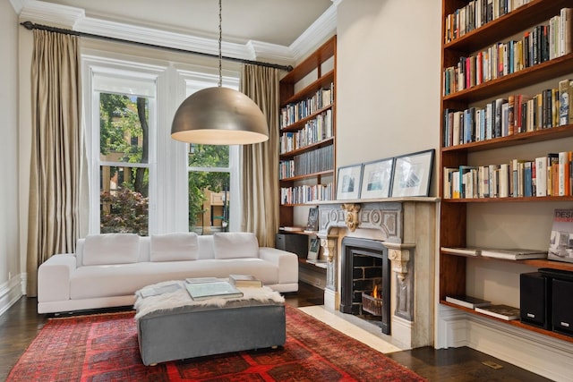
{"label": "narrow strip of pale wall at far left, beside the curtain", "polygon": [[18,17],[0,2],[0,314],[21,296],[18,215]]}

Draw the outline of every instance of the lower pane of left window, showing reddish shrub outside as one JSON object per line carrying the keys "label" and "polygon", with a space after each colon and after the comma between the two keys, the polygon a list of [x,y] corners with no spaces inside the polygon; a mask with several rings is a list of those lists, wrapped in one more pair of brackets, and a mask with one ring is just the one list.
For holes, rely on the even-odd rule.
{"label": "lower pane of left window, showing reddish shrub outside", "polygon": [[99,226],[101,233],[149,233],[149,170],[101,166]]}

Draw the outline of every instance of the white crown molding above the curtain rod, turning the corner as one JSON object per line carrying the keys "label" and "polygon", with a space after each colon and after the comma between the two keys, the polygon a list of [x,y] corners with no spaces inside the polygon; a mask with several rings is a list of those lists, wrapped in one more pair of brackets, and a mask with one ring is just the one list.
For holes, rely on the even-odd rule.
{"label": "white crown molding above the curtain rod, turning the corner", "polygon": [[[38,0],[10,0],[21,21],[58,26],[98,36],[121,38],[159,47],[172,47],[208,55],[218,55],[218,39],[201,38],[167,30],[141,27],[117,21],[86,17],[85,11],[66,5]],[[336,32],[336,2],[321,15],[290,47],[250,40],[245,44],[221,43],[222,54],[245,60],[261,60],[275,64],[294,64],[312,48]],[[18,8],[21,11],[18,12]]]}

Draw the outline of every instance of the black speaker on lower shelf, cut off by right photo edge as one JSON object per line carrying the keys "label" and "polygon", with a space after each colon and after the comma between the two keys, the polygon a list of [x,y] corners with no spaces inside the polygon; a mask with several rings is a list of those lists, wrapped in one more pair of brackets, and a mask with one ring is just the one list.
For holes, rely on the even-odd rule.
{"label": "black speaker on lower shelf, cut off by right photo edge", "polygon": [[573,336],[573,281],[552,279],[552,325],[553,331]]}

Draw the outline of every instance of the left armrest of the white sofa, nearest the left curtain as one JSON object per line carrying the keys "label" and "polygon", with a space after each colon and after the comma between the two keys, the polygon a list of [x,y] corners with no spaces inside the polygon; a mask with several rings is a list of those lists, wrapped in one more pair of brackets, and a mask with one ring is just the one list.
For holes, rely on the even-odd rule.
{"label": "left armrest of the white sofa, nearest the left curtain", "polygon": [[70,278],[76,269],[75,255],[57,254],[38,267],[38,302],[70,300]]}

